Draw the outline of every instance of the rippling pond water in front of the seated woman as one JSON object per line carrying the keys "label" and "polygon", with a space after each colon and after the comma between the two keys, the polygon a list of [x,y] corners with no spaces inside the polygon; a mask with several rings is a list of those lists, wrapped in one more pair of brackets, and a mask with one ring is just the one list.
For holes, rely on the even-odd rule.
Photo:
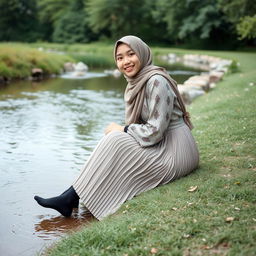
{"label": "rippling pond water in front of the seated woman", "polygon": [[33,196],[66,190],[105,126],[123,123],[125,84],[113,77],[56,78],[0,90],[0,255],[35,255],[93,220],[83,209],[63,218]]}

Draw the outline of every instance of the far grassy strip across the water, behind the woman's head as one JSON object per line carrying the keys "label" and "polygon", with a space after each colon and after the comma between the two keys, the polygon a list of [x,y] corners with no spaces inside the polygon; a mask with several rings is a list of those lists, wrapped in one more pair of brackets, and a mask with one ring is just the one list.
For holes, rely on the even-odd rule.
{"label": "far grassy strip across the water, behind the woman's head", "polygon": [[[40,49],[40,50],[39,50]],[[160,55],[169,53],[183,54],[184,50],[165,49],[153,47],[156,65],[165,65],[166,68],[183,69],[177,64],[163,63]],[[187,51],[191,53],[192,51]],[[233,56],[230,56],[233,59]],[[65,62],[82,61],[89,69],[111,69],[115,68],[113,61],[113,44],[91,43],[91,44],[52,44],[52,43],[0,43],[0,82],[1,80],[24,79],[31,76],[33,68],[40,68],[44,76],[59,74],[63,71]],[[186,70],[194,70],[186,67]]]}

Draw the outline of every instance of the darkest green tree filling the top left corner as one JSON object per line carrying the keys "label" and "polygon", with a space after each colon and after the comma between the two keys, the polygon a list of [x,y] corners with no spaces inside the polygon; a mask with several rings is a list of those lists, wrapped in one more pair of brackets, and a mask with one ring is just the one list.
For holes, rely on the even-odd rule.
{"label": "darkest green tree filling the top left corner", "polygon": [[39,38],[36,0],[0,0],[0,31],[1,41]]}

